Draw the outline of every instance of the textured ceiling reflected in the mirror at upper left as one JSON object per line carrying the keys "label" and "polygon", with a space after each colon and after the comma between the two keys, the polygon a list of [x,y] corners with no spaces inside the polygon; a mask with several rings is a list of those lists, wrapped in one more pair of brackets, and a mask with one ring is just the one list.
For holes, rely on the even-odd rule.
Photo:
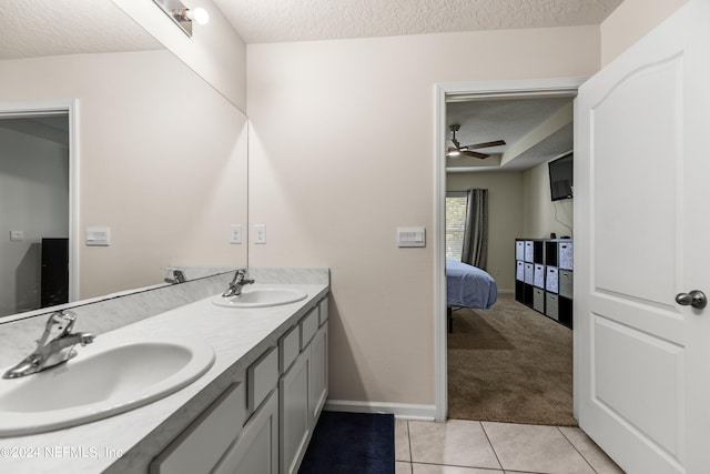
{"label": "textured ceiling reflected in the mirror at upper left", "polygon": [[0,0],[0,59],[162,48],[110,0]]}

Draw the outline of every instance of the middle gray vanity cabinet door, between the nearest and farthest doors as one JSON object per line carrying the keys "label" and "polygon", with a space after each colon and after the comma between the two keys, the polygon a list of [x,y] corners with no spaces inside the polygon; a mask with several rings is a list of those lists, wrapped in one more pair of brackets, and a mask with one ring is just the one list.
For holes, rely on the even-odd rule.
{"label": "middle gray vanity cabinet door, between the nearest and farthest doors", "polygon": [[281,473],[298,472],[311,437],[308,371],[311,351],[301,353],[288,372],[278,381]]}

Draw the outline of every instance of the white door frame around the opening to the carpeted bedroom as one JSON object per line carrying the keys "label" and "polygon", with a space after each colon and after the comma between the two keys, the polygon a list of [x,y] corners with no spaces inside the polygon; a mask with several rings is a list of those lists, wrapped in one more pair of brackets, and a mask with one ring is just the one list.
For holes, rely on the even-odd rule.
{"label": "white door frame around the opening to the carpeted bedroom", "polygon": [[[435,84],[434,120],[434,403],[435,420],[448,415],[446,360],[446,101],[576,95],[587,77],[442,82]],[[575,204],[572,203],[572,209]],[[513,248],[510,248],[513,252]],[[575,367],[575,373],[577,369]],[[575,377],[575,381],[577,379]],[[576,383],[576,382],[575,382]],[[575,415],[576,415],[575,409]]]}

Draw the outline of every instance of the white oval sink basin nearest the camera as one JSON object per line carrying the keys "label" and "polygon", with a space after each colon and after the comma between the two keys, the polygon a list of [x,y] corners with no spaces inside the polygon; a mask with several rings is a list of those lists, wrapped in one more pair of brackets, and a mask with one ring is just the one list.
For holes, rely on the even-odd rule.
{"label": "white oval sink basin nearest the camera", "polygon": [[112,333],[37,374],[0,380],[0,436],[74,426],[146,405],[202,376],[214,350],[201,341]]}

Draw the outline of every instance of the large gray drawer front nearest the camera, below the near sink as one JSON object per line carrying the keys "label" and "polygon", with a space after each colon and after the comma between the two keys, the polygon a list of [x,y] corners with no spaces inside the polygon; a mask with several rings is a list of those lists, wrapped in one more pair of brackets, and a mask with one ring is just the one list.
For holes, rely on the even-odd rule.
{"label": "large gray drawer front nearest the camera, below the near sink", "polygon": [[150,474],[212,471],[236,440],[244,418],[244,384],[234,383],[150,464]]}

